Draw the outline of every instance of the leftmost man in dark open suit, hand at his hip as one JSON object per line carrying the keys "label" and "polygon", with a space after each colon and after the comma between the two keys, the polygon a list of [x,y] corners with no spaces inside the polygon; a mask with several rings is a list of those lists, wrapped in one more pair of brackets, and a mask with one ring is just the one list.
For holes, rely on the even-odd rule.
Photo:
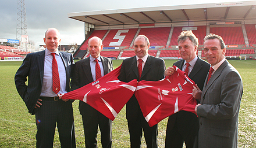
{"label": "leftmost man in dark open suit, hand at his hip", "polygon": [[[35,114],[37,147],[53,147],[56,123],[61,147],[76,147],[72,101],[60,100],[57,95],[69,91],[74,61],[72,54],[58,51],[60,42],[59,31],[56,28],[47,29],[44,38],[47,48],[27,54],[15,75],[20,97],[26,103],[29,113]],[[52,66],[52,61],[55,61],[58,69]],[[54,75],[52,71],[59,75]],[[59,77],[59,86],[54,89],[53,76]],[[25,84],[27,77],[28,85]]]}

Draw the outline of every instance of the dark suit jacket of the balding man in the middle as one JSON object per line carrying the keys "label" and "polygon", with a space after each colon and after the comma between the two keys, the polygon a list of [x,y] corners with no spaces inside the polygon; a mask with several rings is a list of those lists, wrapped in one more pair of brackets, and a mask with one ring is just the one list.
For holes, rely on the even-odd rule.
{"label": "dark suit jacket of the balding man in the middle", "polygon": [[[164,78],[164,72],[165,61],[163,61],[161,58],[148,55],[148,59],[145,62],[140,80],[158,81]],[[136,56],[123,60],[118,79],[122,82],[130,82],[134,79],[139,81]],[[145,99],[147,99],[147,96],[145,96]],[[138,105],[138,101],[135,95],[133,95],[133,97],[131,97],[130,100],[126,103],[126,118],[128,120],[135,119],[139,109],[140,106]]]}

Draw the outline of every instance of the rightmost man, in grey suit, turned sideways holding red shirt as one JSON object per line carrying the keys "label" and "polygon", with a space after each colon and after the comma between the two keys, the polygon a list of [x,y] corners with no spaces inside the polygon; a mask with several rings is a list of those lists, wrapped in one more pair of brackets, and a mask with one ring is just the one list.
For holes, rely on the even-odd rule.
{"label": "rightmost man, in grey suit, turned sideways holding red shirt", "polygon": [[225,43],[221,36],[204,38],[204,55],[211,68],[195,106],[200,117],[198,147],[237,147],[238,118],[243,82],[239,72],[225,59]]}

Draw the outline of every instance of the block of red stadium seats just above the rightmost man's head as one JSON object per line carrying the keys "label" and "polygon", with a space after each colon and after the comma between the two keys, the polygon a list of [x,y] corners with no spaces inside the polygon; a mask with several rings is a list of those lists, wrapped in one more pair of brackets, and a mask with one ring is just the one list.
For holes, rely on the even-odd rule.
{"label": "block of red stadium seats just above the rightmost man's head", "polygon": [[220,35],[226,45],[245,44],[241,27],[211,27],[210,33]]}

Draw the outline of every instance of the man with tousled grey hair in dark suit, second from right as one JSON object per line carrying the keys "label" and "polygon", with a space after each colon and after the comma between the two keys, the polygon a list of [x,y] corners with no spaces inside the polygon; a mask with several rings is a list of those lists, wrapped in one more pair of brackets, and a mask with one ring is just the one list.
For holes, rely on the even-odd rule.
{"label": "man with tousled grey hair in dark suit, second from right", "polygon": [[[197,84],[199,88],[204,87],[204,80],[209,71],[209,64],[197,56],[198,39],[192,31],[181,32],[178,38],[179,53],[183,60],[175,62],[173,65],[187,70],[187,75]],[[175,72],[173,67],[165,71],[165,76]],[[166,128],[165,147],[197,147],[197,135],[199,121],[197,115],[184,110],[169,117]]]}

